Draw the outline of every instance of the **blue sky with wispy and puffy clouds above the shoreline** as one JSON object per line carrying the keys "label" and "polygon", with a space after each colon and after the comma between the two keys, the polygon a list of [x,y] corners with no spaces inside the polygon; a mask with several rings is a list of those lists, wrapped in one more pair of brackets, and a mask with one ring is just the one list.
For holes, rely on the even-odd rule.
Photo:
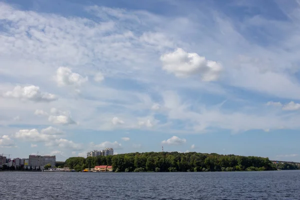
{"label": "blue sky with wispy and puffy clouds above the shoreline", "polygon": [[300,1],[0,1],[0,154],[300,161]]}

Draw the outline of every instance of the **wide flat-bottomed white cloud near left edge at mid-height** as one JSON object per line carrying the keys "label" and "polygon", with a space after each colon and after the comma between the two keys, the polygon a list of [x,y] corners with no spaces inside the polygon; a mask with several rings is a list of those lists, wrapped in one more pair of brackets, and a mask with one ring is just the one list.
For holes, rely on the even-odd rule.
{"label": "wide flat-bottomed white cloud near left edge at mid-height", "polygon": [[7,98],[18,98],[21,100],[31,100],[35,102],[44,101],[50,102],[57,100],[57,96],[47,92],[41,92],[38,86],[20,86],[17,85],[12,91],[6,91],[2,94],[3,97]]}

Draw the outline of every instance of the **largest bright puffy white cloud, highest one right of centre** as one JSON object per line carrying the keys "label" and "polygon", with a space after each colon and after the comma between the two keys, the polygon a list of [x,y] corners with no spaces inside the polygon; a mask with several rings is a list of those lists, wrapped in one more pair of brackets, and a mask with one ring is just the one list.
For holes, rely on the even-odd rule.
{"label": "largest bright puffy white cloud, highest one right of centre", "polygon": [[174,52],[160,56],[162,69],[174,73],[178,77],[198,74],[203,81],[213,81],[219,78],[222,65],[205,59],[197,53],[185,52],[177,48]]}

